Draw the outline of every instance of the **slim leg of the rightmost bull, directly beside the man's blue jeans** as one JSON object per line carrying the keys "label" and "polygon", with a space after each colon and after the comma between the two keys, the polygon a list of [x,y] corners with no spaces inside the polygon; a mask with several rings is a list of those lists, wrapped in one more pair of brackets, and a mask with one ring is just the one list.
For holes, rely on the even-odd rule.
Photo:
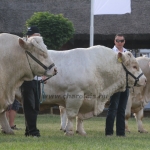
{"label": "slim leg of the rightmost bull, directly beside the man's blue jeans", "polygon": [[126,132],[130,132],[128,127],[128,120],[131,116],[131,106],[132,106],[132,99],[131,96],[129,95],[126,110],[125,110],[125,131]]}

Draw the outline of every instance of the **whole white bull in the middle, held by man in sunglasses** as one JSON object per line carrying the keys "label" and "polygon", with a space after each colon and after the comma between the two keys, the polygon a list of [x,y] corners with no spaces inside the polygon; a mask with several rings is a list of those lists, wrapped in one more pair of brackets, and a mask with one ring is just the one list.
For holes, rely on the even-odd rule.
{"label": "whole white bull in the middle, held by man in sunglasses", "polygon": [[[45,85],[46,104],[58,104],[66,108],[66,134],[73,135],[73,119],[78,122],[100,114],[106,101],[112,94],[124,91],[126,87],[125,65],[134,76],[142,71],[132,53],[116,54],[104,46],[78,48],[68,51],[49,51],[58,67],[59,73]],[[118,59],[119,58],[119,59]],[[128,76],[129,86],[135,79]],[[145,85],[146,78],[142,75],[139,85]],[[78,132],[85,135],[82,125]]]}

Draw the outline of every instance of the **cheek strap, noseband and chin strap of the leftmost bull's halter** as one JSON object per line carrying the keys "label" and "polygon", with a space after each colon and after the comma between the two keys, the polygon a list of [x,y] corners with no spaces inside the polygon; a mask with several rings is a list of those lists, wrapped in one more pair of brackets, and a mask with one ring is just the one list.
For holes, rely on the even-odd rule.
{"label": "cheek strap, noseband and chin strap of the leftmost bull's halter", "polygon": [[[46,67],[43,63],[41,63],[36,57],[34,57],[29,51],[25,51],[26,52],[26,55],[28,54],[35,62],[37,62],[41,67],[43,67],[46,71],[49,71],[50,69],[52,69],[54,66],[55,66],[55,64],[54,63],[52,63],[49,67]],[[27,57],[28,58],[28,57]],[[29,60],[28,60],[29,61]],[[57,72],[54,74],[54,75],[56,75],[57,74]],[[52,75],[52,76],[54,76],[54,75]],[[51,76],[51,77],[52,77]],[[49,78],[51,78],[51,77],[48,77],[48,79]],[[47,80],[48,80],[47,79]]]}

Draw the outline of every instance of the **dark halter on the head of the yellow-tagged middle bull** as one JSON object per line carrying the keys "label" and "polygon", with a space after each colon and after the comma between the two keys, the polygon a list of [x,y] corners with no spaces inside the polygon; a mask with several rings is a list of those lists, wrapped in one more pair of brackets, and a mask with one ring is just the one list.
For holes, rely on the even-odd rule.
{"label": "dark halter on the head of the yellow-tagged middle bull", "polygon": [[143,75],[143,73],[141,73],[138,77],[135,77],[131,72],[129,72],[127,70],[127,68],[124,66],[123,63],[122,63],[122,66],[123,66],[123,69],[126,72],[126,88],[130,88],[129,85],[128,85],[128,75],[132,76],[135,79],[134,86],[136,86],[137,82],[139,81],[139,78]]}

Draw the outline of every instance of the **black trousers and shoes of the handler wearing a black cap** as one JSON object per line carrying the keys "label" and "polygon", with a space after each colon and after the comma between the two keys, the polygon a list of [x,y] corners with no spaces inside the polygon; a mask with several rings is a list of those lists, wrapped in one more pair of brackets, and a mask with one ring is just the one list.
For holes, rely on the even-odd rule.
{"label": "black trousers and shoes of the handler wearing a black cap", "polygon": [[40,82],[25,81],[21,86],[23,96],[23,110],[26,121],[25,135],[40,135],[37,129],[37,115],[40,109]]}

